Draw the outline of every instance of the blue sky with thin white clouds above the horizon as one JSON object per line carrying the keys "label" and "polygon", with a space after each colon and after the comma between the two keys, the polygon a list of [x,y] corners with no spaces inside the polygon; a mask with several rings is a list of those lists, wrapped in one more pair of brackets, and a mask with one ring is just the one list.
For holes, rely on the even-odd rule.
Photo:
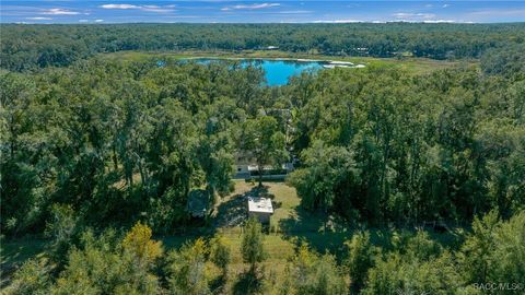
{"label": "blue sky with thin white clouds above the horizon", "polygon": [[1,23],[503,23],[525,22],[522,1],[0,0]]}

